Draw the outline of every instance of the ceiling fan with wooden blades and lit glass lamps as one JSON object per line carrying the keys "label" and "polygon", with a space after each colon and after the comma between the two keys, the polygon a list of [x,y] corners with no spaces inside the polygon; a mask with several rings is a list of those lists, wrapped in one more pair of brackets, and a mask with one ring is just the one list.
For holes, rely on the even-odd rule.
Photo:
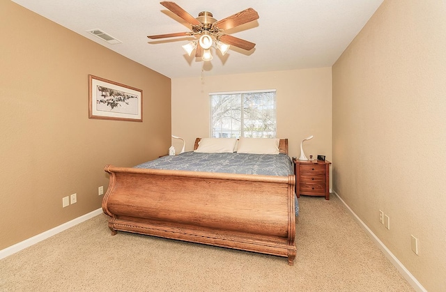
{"label": "ceiling fan with wooden blades and lit glass lamps", "polygon": [[196,49],[195,56],[197,58],[201,58],[203,61],[210,61],[212,60],[212,55],[210,54],[209,49],[213,45],[219,49],[223,55],[228,52],[231,45],[247,51],[253,49],[256,45],[247,40],[242,40],[241,38],[236,38],[235,36],[230,36],[225,33],[225,31],[233,29],[236,26],[258,20],[259,14],[252,8],[247,8],[239,13],[217,21],[213,17],[213,14],[208,11],[199,13],[198,17],[195,18],[174,2],[162,1],[160,4],[187,21],[190,24],[192,31],[159,34],[147,37],[158,39],[174,38],[178,36],[200,36],[198,42],[197,40],[193,40],[187,45],[183,45],[183,49],[185,49],[189,56],[194,49]]}

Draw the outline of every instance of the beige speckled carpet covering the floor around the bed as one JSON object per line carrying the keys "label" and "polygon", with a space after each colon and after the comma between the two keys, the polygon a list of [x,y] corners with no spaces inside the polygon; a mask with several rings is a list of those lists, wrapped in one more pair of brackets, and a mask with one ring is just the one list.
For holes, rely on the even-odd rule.
{"label": "beige speckled carpet covering the floor around the bed", "polygon": [[336,196],[301,197],[286,258],[118,232],[98,215],[0,261],[0,291],[414,291]]}

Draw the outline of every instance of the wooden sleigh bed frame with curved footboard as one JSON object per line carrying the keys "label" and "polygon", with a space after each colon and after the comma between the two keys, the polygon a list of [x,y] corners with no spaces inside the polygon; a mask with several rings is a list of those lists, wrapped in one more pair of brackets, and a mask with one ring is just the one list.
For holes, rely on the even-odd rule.
{"label": "wooden sleigh bed frame with curved footboard", "polygon": [[[197,139],[194,149],[198,146]],[[288,155],[288,140],[279,151]],[[117,231],[295,259],[295,176],[107,165],[102,201]]]}

